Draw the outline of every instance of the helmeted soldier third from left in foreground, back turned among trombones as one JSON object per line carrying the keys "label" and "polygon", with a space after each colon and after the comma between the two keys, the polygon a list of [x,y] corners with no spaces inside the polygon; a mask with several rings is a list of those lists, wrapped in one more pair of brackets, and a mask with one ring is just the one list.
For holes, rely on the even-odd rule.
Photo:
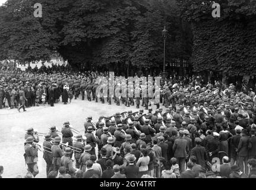
{"label": "helmeted soldier third from left in foreground, back turned among trombones", "polygon": [[59,143],[61,143],[61,137],[55,137],[51,148],[53,171],[55,172],[58,172],[59,167],[61,167],[61,157],[64,155]]}

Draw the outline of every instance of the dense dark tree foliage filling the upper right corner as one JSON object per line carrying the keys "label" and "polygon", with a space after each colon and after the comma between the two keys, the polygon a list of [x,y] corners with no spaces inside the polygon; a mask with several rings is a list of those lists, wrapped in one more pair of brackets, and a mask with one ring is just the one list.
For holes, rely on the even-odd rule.
{"label": "dense dark tree foliage filling the upper right corner", "polygon": [[256,1],[214,1],[220,18],[211,16],[213,1],[179,1],[184,20],[192,25],[192,63],[195,71],[224,75],[256,72]]}

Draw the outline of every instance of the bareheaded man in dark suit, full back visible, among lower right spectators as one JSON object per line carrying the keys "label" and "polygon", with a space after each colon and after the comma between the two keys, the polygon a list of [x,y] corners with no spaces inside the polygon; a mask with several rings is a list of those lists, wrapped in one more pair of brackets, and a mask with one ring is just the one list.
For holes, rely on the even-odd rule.
{"label": "bareheaded man in dark suit, full back visible, among lower right spectators", "polygon": [[189,150],[188,141],[183,138],[184,131],[179,130],[179,138],[173,143],[174,157],[177,159],[181,172],[185,170],[185,160],[187,159],[187,153]]}

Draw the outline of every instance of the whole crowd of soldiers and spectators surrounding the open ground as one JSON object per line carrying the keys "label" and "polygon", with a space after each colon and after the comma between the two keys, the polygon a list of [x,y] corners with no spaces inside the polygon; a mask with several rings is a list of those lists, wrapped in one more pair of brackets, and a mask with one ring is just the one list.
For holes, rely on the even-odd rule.
{"label": "whole crowd of soldiers and spectators surrounding the open ground", "polygon": [[[97,124],[89,116],[85,134],[76,137],[73,134],[77,131],[69,122],[59,132],[52,126],[41,145],[48,178],[255,178],[256,105],[252,88],[220,81],[206,84],[195,76],[172,76],[162,78],[160,87],[148,84],[154,93],[161,89],[160,102],[154,103],[157,94],[97,96],[97,87],[106,83],[97,77],[108,75],[30,69],[1,72],[0,109],[9,106],[25,111],[25,107],[46,102],[53,106],[60,97],[67,104],[73,96],[86,100],[87,95],[88,101],[109,105],[113,101],[148,110],[101,116]],[[122,83],[115,83],[115,88]],[[35,167],[39,138],[30,128],[25,140],[26,176],[33,178],[39,172]]]}

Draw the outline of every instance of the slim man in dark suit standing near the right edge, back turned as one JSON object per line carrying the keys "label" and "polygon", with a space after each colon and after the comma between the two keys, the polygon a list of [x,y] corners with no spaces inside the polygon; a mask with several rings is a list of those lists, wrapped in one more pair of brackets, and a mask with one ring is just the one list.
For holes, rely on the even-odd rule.
{"label": "slim man in dark suit standing near the right edge, back turned", "polygon": [[248,145],[249,138],[247,136],[247,130],[242,129],[241,138],[238,144],[238,166],[241,168],[242,172],[244,172],[244,164],[245,164],[245,174],[248,175]]}

